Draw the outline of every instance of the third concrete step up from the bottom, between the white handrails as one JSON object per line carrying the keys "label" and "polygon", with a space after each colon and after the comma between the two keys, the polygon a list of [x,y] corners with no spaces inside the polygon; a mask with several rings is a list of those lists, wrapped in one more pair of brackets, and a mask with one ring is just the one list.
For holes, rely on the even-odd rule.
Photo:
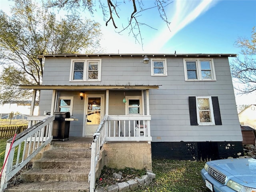
{"label": "third concrete step up from the bottom, between the white handrails", "polygon": [[41,158],[33,162],[33,169],[49,169],[49,168],[90,168],[90,158]]}

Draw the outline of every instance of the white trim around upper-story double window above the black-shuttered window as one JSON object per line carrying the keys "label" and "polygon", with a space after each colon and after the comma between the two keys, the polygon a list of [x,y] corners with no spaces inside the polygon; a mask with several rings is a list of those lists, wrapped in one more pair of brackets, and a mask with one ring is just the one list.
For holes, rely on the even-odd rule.
{"label": "white trim around upper-story double window above the black-shuttered window", "polygon": [[[186,61],[195,61],[196,62],[196,79],[188,79],[188,73],[187,73],[187,65]],[[210,68],[211,68],[211,79],[202,79],[202,70],[201,70],[201,61],[210,61]],[[184,75],[185,75],[185,81],[216,81],[216,75],[215,75],[215,68],[214,68],[214,62],[213,58],[184,58],[183,59],[183,66],[184,66]]]}

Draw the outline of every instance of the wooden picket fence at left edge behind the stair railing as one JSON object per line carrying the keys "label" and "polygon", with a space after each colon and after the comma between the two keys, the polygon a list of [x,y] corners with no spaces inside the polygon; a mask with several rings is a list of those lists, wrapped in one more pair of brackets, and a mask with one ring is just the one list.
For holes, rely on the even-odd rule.
{"label": "wooden picket fence at left edge behind the stair railing", "polygon": [[18,129],[18,133],[24,131],[28,128],[28,125],[10,125],[10,126],[2,126],[0,127],[0,139],[11,138],[14,136],[16,129]]}

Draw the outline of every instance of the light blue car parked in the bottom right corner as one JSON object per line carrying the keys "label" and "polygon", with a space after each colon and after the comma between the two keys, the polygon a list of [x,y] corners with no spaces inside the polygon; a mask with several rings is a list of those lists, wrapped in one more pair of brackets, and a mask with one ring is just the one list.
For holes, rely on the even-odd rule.
{"label": "light blue car parked in the bottom right corner", "polygon": [[201,175],[212,192],[256,192],[256,158],[209,161]]}

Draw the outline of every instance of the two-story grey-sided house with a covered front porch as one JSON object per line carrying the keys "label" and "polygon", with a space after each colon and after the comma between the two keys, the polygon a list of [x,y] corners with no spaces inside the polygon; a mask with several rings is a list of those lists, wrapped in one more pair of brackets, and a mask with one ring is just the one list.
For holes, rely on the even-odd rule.
{"label": "two-story grey-sided house with a covered front porch", "polygon": [[[39,57],[45,58],[42,85],[19,88],[41,90],[40,115],[68,111],[78,119],[70,122],[71,137],[92,136],[106,114],[116,120],[129,117],[111,122],[114,128],[108,134],[114,130],[114,135],[107,141],[121,141],[115,153],[125,145],[130,148],[125,152],[142,153],[144,148],[131,144],[137,144],[132,142],[136,136],[140,141],[145,136],[153,158],[213,160],[243,155],[228,62],[235,54]],[[142,120],[134,120],[137,116]]]}

